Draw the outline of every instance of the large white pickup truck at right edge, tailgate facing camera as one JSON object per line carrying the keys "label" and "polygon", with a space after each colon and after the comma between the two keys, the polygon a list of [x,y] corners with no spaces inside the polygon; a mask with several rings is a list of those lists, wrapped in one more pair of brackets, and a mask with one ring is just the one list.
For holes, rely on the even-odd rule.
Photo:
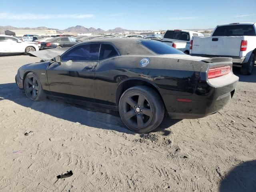
{"label": "large white pickup truck at right edge, tailgate facing camera", "polygon": [[194,37],[190,54],[203,57],[231,57],[242,74],[252,74],[256,55],[256,24],[218,25],[210,37]]}

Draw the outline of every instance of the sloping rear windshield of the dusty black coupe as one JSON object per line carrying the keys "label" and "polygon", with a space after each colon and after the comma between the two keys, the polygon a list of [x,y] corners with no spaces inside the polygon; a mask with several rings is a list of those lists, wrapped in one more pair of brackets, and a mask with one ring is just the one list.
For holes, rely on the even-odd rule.
{"label": "sloping rear windshield of the dusty black coupe", "polygon": [[165,43],[158,41],[141,41],[141,44],[144,45],[149,50],[155,52],[156,54],[184,54],[182,51],[175,49]]}

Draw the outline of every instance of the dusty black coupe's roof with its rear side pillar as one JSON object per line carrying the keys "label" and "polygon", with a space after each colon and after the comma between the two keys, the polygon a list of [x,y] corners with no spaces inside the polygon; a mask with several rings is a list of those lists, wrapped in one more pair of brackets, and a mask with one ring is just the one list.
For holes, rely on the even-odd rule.
{"label": "dusty black coupe's roof with its rear side pillar", "polygon": [[77,45],[88,43],[111,43],[118,49],[121,55],[155,55],[148,48],[143,46],[141,41],[154,41],[142,38],[102,38],[80,42]]}

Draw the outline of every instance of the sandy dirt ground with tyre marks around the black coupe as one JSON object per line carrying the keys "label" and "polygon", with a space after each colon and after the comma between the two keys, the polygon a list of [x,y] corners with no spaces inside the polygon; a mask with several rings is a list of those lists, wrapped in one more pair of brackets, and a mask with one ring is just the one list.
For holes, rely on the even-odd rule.
{"label": "sandy dirt ground with tyre marks around the black coupe", "polygon": [[0,57],[0,191],[256,191],[256,67],[216,114],[136,134],[113,112],[26,98],[14,76],[36,61]]}

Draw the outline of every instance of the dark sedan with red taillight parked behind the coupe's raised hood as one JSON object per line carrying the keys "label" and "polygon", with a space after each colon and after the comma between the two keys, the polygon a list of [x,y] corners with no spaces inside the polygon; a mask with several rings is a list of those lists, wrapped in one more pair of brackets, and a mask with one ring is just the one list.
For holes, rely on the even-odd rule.
{"label": "dark sedan with red taillight parked behind the coupe's raised hood", "polygon": [[41,42],[41,49],[72,47],[77,43],[78,40],[74,37],[55,37]]}

